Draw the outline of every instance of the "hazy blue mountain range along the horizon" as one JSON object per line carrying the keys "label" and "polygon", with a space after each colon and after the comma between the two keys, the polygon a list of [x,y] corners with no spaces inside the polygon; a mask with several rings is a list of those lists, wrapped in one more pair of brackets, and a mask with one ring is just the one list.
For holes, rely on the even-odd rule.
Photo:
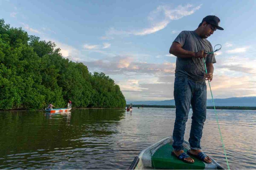
{"label": "hazy blue mountain range along the horizon", "polygon": [[[126,101],[126,104],[144,104],[144,105],[175,105],[173,100],[163,101]],[[231,97],[227,99],[214,99],[215,106],[256,106],[256,97]],[[207,106],[213,106],[211,99],[207,100]]]}

